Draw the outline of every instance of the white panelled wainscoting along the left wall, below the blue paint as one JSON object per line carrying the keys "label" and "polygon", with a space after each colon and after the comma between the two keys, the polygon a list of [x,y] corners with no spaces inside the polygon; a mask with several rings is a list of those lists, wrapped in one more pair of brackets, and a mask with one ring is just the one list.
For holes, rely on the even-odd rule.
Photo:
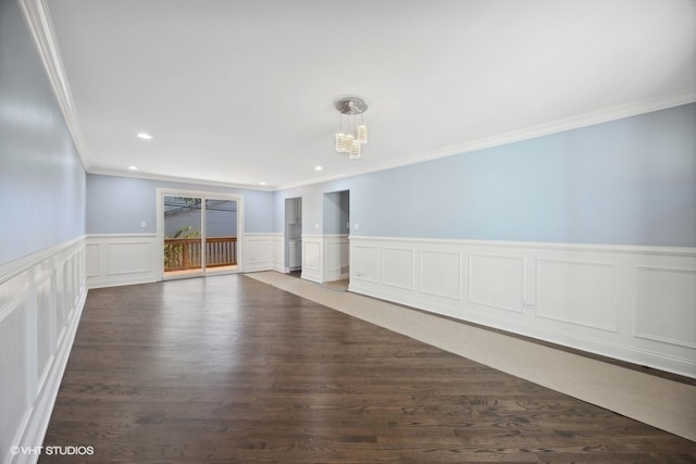
{"label": "white panelled wainscoting along the left wall, below the blue paint", "polygon": [[0,461],[36,462],[85,298],[85,239],[0,266]]}

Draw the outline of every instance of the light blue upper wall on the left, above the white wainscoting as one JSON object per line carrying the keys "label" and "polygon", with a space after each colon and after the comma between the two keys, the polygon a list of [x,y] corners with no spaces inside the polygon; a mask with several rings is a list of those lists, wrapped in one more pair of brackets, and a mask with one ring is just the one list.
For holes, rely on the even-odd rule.
{"label": "light blue upper wall on the left, above the white wainscoting", "polygon": [[0,264],[85,234],[85,170],[12,0],[0,0]]}

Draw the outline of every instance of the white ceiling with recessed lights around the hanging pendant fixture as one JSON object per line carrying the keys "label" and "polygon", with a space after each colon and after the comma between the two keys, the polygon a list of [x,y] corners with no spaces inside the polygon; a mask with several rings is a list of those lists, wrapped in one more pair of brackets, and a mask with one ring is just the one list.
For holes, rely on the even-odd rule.
{"label": "white ceiling with recessed lights around the hanging pendant fixture", "polygon": [[[90,173],[284,188],[696,100],[694,0],[46,4]],[[360,160],[333,149],[346,95]]]}

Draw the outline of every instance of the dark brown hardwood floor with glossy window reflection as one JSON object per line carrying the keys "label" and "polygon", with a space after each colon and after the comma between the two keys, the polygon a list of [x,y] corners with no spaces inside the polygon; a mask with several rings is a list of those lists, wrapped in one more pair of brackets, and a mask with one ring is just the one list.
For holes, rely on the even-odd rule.
{"label": "dark brown hardwood floor with glossy window reflection", "polygon": [[[659,398],[655,398],[659,401]],[[90,290],[40,463],[696,463],[696,443],[241,275]]]}

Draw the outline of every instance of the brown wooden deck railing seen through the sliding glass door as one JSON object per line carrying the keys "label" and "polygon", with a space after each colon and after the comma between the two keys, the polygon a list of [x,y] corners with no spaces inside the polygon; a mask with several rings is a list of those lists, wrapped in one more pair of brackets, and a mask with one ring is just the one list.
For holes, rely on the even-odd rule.
{"label": "brown wooden deck railing seen through the sliding glass door", "polygon": [[[188,271],[201,267],[200,238],[165,238],[164,271]],[[237,264],[237,237],[206,239],[206,267]]]}

